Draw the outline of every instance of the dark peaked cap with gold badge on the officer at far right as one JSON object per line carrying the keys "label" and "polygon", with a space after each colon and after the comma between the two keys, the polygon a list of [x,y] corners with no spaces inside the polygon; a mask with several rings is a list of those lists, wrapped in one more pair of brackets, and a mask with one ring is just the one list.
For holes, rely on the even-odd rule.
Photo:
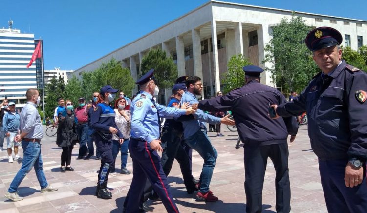
{"label": "dark peaked cap with gold badge on the officer at far right", "polygon": [[331,27],[318,27],[311,30],[306,37],[307,48],[311,51],[341,44],[343,37],[340,32]]}

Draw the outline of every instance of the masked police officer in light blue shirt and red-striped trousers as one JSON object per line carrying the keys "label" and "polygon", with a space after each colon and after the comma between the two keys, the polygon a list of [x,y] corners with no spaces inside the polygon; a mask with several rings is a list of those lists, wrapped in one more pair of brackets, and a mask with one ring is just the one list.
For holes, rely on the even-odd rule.
{"label": "masked police officer in light blue shirt and red-striped trousers", "polygon": [[163,172],[161,159],[157,151],[163,151],[160,145],[160,117],[159,114],[178,117],[194,113],[191,107],[186,110],[174,107],[166,108],[156,104],[153,95],[158,95],[159,89],[154,77],[154,69],[143,75],[136,84],[140,85],[140,93],[131,104],[131,138],[129,152],[132,158],[133,178],[124,203],[124,212],[139,211],[137,202],[143,192],[148,178],[154,191],[161,198],[167,212],[178,213],[166,175]]}

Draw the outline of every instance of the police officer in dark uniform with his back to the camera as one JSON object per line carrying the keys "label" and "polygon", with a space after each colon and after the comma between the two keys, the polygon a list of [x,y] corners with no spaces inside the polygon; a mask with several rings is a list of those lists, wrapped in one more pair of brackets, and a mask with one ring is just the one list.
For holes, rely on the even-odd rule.
{"label": "police officer in dark uniform with his back to the camera", "polygon": [[226,95],[205,99],[198,108],[206,111],[232,111],[240,139],[244,143],[246,212],[262,211],[262,186],[267,159],[276,171],[276,210],[290,212],[288,174],[288,134],[293,142],[298,131],[295,117],[272,120],[268,116],[270,104],[285,103],[275,88],[260,83],[258,66],[244,66],[246,85]]}

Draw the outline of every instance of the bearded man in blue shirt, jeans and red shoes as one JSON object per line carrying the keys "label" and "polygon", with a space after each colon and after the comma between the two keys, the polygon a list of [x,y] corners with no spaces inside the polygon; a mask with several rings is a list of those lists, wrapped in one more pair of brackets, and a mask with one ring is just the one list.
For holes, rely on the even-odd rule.
{"label": "bearded man in blue shirt, jeans and red shoes", "polygon": [[[187,92],[181,98],[181,104],[188,102],[192,106],[196,106],[198,100],[195,95],[201,95],[203,84],[201,79],[197,76],[191,76],[186,80]],[[235,122],[230,120],[229,115],[223,118],[217,118],[202,110],[197,109],[194,114],[195,119],[189,119],[183,121],[182,125],[184,128],[184,138],[187,145],[196,150],[200,156],[204,159],[203,169],[200,175],[199,190],[196,198],[206,202],[217,201],[218,198],[213,195],[212,191],[209,190],[210,181],[212,179],[213,170],[216,166],[217,152],[213,147],[210,139],[206,135],[205,123],[210,124],[226,124],[235,125]]]}

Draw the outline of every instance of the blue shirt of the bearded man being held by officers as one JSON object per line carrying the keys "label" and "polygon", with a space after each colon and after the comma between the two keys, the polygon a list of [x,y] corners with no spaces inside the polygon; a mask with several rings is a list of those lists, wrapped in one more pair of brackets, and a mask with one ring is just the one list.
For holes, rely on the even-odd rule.
{"label": "blue shirt of the bearded man being held by officers", "polygon": [[[181,98],[181,104],[184,102],[189,102],[190,105],[199,103],[193,93],[185,92],[185,94]],[[210,124],[220,124],[221,118],[217,118],[215,116],[209,115],[205,113],[201,109],[197,109],[196,113],[194,114],[194,118],[189,121],[183,121],[182,126],[184,128],[184,138],[188,138],[194,135],[200,128],[206,128],[205,123]]]}

